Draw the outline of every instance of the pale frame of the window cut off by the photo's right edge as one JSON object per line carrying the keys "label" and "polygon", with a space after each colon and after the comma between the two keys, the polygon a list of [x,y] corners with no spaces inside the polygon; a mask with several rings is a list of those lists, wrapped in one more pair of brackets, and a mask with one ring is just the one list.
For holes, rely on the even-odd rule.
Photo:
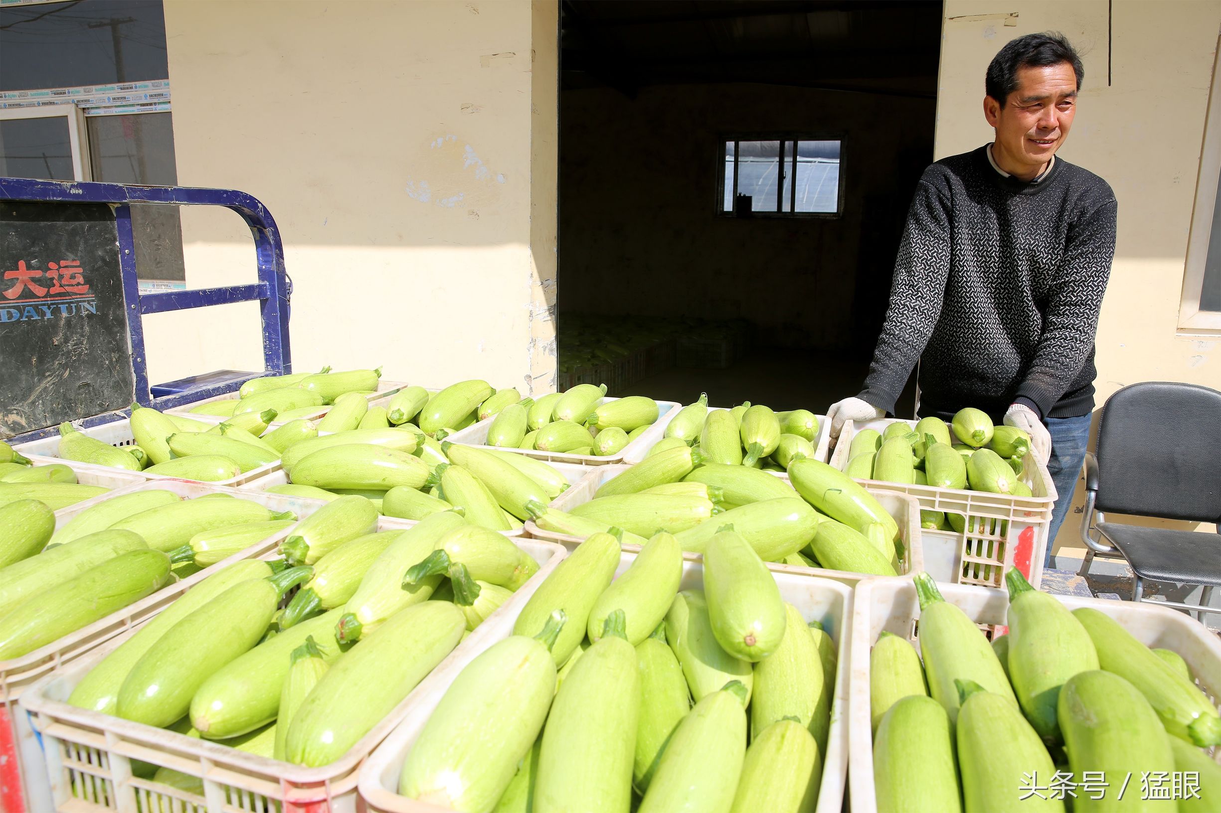
{"label": "pale frame of the window cut off by the photo's right edge", "polygon": [[[1221,48],[1221,38],[1217,39]],[[1221,310],[1200,310],[1204,292],[1204,267],[1212,238],[1212,219],[1221,205],[1221,51],[1214,60],[1209,109],[1204,118],[1204,145],[1200,171],[1195,181],[1195,205],[1192,229],[1187,238],[1183,266],[1183,291],[1178,310],[1178,332],[1184,334],[1221,334]],[[1221,239],[1221,236],[1217,236]]]}

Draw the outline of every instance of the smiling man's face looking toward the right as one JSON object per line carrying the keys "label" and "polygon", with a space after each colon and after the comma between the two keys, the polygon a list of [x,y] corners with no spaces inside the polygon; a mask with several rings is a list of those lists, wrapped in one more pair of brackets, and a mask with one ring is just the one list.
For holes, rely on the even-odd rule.
{"label": "smiling man's face looking toward the right", "polygon": [[1068,138],[1076,109],[1072,65],[1018,68],[1017,88],[1004,104],[984,98],[984,115],[996,128],[993,157],[1011,175],[1034,177]]}

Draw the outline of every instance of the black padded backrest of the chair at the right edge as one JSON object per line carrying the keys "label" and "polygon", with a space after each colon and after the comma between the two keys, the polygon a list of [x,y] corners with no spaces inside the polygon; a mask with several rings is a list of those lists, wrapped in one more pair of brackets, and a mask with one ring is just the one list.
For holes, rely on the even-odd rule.
{"label": "black padded backrest of the chair at the right edge", "polygon": [[1150,381],[1111,396],[1098,425],[1100,511],[1221,518],[1221,392]]}

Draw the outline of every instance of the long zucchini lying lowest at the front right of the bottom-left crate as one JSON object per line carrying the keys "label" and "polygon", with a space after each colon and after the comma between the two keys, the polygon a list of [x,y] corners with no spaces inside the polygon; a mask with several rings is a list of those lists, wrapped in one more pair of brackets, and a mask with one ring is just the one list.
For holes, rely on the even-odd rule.
{"label": "long zucchini lying lowest at the front right of the bottom-left crate", "polygon": [[288,761],[314,768],[339,759],[458,646],[465,626],[446,602],[386,619],[335,662],[293,715]]}

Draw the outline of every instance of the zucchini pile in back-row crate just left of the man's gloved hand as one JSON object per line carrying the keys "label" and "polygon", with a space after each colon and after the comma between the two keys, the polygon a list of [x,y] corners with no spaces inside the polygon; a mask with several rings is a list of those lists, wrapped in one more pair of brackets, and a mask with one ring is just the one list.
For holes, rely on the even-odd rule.
{"label": "zucchini pile in back-row crate just left of the man's gloved hand", "polygon": [[708,409],[707,393],[687,404],[665,426],[650,454],[696,446],[709,463],[784,471],[797,458],[814,457],[818,416],[807,409],[774,413],[750,402],[733,409]]}

